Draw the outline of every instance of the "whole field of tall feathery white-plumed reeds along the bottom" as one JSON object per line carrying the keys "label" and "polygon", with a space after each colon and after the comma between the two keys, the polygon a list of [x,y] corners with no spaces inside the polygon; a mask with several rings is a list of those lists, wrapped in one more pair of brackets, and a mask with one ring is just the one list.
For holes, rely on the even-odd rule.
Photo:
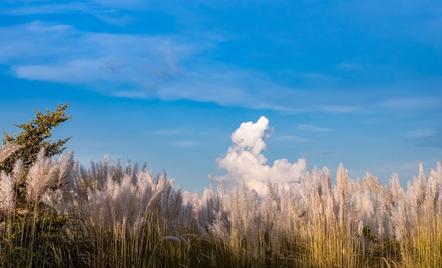
{"label": "whole field of tall feathery white-plumed reeds along the bottom", "polygon": [[260,197],[40,152],[0,174],[0,267],[440,267],[442,165],[417,169],[404,190],[395,174],[383,185],[314,168]]}

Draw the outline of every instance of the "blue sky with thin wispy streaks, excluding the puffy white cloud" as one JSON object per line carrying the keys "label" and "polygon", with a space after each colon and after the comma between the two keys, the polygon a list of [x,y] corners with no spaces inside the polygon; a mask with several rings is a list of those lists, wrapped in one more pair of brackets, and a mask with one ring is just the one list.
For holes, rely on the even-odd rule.
{"label": "blue sky with thin wispy streaks, excluding the puffy white cloud", "polygon": [[265,116],[264,164],[405,183],[442,159],[440,29],[441,1],[1,1],[0,128],[69,102],[82,164],[203,190]]}

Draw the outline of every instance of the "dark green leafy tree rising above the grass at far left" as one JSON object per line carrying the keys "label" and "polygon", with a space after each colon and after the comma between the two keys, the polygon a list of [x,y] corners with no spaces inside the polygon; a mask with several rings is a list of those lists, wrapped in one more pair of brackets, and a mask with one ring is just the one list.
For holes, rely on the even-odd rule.
{"label": "dark green leafy tree rising above the grass at far left", "polygon": [[59,104],[52,113],[49,109],[46,109],[46,114],[35,109],[35,111],[37,111],[36,118],[32,118],[29,123],[14,124],[14,126],[23,129],[20,130],[18,135],[11,135],[4,132],[5,138],[3,139],[3,144],[6,145],[12,142],[20,145],[20,149],[4,159],[3,162],[0,162],[0,171],[11,173],[18,159],[23,160],[25,171],[28,170],[35,162],[35,159],[37,159],[37,154],[42,148],[44,148],[47,157],[53,157],[63,152],[63,150],[66,149],[63,145],[71,139],[71,137],[57,140],[56,142],[52,142],[48,139],[52,136],[52,128],[59,126],[60,123],[72,117],[65,115],[66,108],[68,108],[69,105],[70,104]]}

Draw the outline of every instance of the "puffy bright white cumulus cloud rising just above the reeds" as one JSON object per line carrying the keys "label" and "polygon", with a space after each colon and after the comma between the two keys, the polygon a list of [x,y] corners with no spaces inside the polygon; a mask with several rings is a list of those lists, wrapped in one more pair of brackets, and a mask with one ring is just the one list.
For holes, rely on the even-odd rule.
{"label": "puffy bright white cumulus cloud rising just above the reeds", "polygon": [[227,185],[244,181],[260,195],[267,192],[268,180],[278,185],[287,185],[290,181],[299,181],[307,170],[306,159],[290,163],[287,159],[277,159],[269,166],[262,154],[267,149],[264,138],[269,138],[271,129],[268,118],[261,116],[256,123],[244,122],[232,134],[233,145],[225,157],[216,159],[219,169],[227,173],[224,176],[211,177]]}

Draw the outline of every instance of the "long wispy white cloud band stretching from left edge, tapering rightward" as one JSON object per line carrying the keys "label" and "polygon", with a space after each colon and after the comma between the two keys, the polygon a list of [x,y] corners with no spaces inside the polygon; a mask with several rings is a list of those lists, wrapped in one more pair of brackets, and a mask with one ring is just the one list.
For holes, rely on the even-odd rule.
{"label": "long wispy white cloud band stretching from left edge, tapering rightward", "polygon": [[[356,111],[326,105],[325,99],[306,106],[303,99],[314,94],[309,90],[280,85],[253,69],[209,63],[201,54],[215,49],[219,38],[86,32],[43,21],[3,27],[0,35],[8,36],[0,42],[0,64],[20,79],[82,85],[113,97],[189,99],[290,113]],[[329,77],[297,73],[297,79],[316,85]]]}

